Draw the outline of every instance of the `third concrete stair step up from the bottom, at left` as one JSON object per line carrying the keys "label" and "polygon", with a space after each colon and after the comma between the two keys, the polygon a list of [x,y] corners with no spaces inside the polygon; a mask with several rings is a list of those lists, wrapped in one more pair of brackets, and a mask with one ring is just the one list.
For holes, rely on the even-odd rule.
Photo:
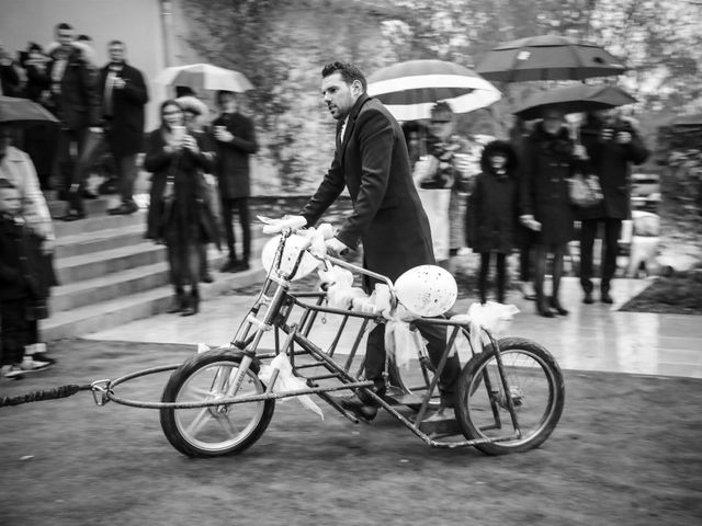
{"label": "third concrete stair step up from the bottom, at left", "polygon": [[140,265],[150,265],[166,260],[166,247],[144,241],[138,244],[61,258],[55,261],[55,270],[60,285],[105,276]]}

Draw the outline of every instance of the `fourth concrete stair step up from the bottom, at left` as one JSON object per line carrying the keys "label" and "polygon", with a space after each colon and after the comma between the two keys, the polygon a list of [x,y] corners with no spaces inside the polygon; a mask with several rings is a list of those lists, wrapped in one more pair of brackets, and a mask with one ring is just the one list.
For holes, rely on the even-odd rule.
{"label": "fourth concrete stair step up from the bottom, at left", "polygon": [[54,254],[55,258],[70,258],[138,244],[144,242],[145,230],[145,226],[139,222],[93,232],[63,236],[56,239]]}

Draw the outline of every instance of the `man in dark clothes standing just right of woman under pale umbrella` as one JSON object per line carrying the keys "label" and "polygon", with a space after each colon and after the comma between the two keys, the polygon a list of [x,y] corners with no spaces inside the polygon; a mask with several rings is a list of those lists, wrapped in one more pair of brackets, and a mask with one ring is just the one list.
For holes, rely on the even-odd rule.
{"label": "man in dark clothes standing just right of woman under pale umbrella", "polygon": [[[222,199],[222,220],[227,237],[229,258],[222,272],[240,272],[249,268],[251,256],[251,221],[249,196],[251,195],[249,157],[258,151],[251,119],[239,112],[237,94],[217,92],[220,115],[212,123],[217,145],[216,174]],[[237,258],[233,225],[234,210],[241,226],[241,259]]]}

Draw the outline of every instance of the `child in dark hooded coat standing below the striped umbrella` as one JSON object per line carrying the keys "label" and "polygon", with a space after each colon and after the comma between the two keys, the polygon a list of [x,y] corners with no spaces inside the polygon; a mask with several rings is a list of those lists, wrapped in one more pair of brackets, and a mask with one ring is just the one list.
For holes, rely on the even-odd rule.
{"label": "child in dark hooded coat standing below the striped umbrella", "polygon": [[478,288],[480,302],[487,300],[490,254],[497,262],[497,300],[505,302],[507,255],[514,244],[517,226],[517,155],[509,142],[494,140],[480,157],[482,173],[468,196],[466,242],[480,254]]}

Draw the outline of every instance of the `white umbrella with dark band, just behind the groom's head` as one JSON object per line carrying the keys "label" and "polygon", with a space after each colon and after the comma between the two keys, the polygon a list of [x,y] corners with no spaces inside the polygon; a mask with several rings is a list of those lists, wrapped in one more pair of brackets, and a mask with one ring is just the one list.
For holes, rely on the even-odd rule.
{"label": "white umbrella with dark band, just behind the groom's head", "polygon": [[429,118],[431,106],[445,101],[455,113],[487,107],[501,94],[475,71],[444,60],[409,60],[371,75],[369,95],[398,121]]}

